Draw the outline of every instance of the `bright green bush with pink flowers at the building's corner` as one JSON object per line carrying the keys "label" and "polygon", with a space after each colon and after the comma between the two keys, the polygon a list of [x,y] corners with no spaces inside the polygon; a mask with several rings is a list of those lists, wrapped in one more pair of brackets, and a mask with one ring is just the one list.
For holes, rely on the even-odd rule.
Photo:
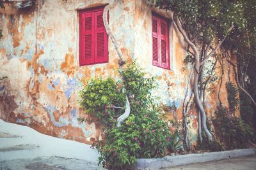
{"label": "bright green bush with pink flowers at the building's corner", "polygon": [[[81,92],[84,110],[104,119],[104,139],[95,141],[93,148],[100,153],[99,164],[108,169],[130,169],[137,158],[162,157],[177,142],[150,95],[154,78],[145,78],[134,62],[120,70],[120,75],[123,84],[111,78],[93,79]],[[124,106],[123,86],[131,101],[131,115],[121,127],[116,127],[116,118],[124,110],[113,105]]]}

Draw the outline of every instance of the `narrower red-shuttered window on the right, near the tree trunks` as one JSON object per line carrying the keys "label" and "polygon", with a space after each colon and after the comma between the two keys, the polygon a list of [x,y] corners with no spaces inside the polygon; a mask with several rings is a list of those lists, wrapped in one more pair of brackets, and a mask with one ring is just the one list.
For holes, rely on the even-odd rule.
{"label": "narrower red-shuttered window on the right, near the tree trunks", "polygon": [[169,23],[152,13],[152,64],[170,69]]}

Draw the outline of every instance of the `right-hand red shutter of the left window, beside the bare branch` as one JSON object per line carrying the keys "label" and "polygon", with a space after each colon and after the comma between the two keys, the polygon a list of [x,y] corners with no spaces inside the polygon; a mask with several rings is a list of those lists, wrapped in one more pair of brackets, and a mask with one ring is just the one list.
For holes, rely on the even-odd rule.
{"label": "right-hand red shutter of the left window, beside the bare branch", "polygon": [[108,35],[103,23],[103,11],[95,13],[95,62],[108,62]]}

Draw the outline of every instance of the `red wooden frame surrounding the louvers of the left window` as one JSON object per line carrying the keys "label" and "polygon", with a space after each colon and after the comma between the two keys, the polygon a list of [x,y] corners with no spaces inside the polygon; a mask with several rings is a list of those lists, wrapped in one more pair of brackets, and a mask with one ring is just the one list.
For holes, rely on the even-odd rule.
{"label": "red wooden frame surrounding the louvers of the left window", "polygon": [[[104,10],[104,6],[97,6],[97,7],[93,7],[93,8],[87,8],[87,9],[83,9],[83,10],[79,10],[78,11],[78,15],[79,15],[79,66],[90,66],[90,65],[95,65],[95,64],[103,64],[103,63],[108,63],[109,62],[109,52],[108,52],[108,34],[106,33],[106,28],[105,26],[102,27],[102,32],[104,32],[104,34],[106,35],[106,37],[104,38],[104,49],[106,48],[106,51],[104,50],[104,60],[103,61],[96,61],[97,60],[97,43],[95,43],[97,41],[97,31],[99,29],[97,29],[97,27],[95,27],[95,22],[97,22],[97,20],[95,20],[95,18],[97,17],[97,12],[102,11],[102,17],[103,17],[103,10]],[[85,25],[83,27],[83,19],[85,19],[85,17],[83,18],[83,15],[90,15],[90,13],[93,13],[93,18],[92,19],[92,62],[88,63],[85,59],[85,50],[83,51],[83,38],[81,36],[84,36],[84,32],[82,29],[85,28]],[[109,18],[109,16],[108,16]],[[83,53],[84,52],[84,53]],[[84,59],[83,59],[84,57]]]}

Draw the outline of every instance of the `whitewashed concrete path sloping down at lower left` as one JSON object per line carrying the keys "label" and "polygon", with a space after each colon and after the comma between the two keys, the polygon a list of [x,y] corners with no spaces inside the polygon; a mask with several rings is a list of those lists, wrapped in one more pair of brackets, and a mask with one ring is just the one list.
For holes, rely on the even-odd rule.
{"label": "whitewashed concrete path sloping down at lower left", "polygon": [[103,169],[90,145],[54,138],[0,119],[0,170]]}

